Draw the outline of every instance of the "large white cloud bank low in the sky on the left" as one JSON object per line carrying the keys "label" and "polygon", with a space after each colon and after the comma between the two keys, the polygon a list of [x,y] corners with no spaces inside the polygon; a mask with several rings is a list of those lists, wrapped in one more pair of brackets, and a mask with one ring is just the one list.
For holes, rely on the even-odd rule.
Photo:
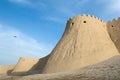
{"label": "large white cloud bank low in the sky on the left", "polygon": [[15,63],[21,56],[40,58],[49,52],[50,46],[16,29],[0,25],[0,65]]}

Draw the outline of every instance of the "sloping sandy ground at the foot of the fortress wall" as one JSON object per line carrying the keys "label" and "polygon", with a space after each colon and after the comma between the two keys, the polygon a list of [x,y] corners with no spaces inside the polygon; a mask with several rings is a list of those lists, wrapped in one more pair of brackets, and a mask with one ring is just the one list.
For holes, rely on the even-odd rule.
{"label": "sloping sandy ground at the foot of the fortress wall", "polygon": [[53,74],[1,76],[0,80],[120,80],[120,56],[82,69]]}

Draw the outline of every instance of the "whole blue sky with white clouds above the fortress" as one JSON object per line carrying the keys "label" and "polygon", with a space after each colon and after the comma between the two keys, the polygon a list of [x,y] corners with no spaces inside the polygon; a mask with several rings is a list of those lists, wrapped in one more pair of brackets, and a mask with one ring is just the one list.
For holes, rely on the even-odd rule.
{"label": "whole blue sky with white clouds above the fortress", "polygon": [[0,65],[15,64],[21,56],[49,54],[70,17],[91,14],[107,22],[120,16],[119,4],[120,0],[0,0]]}

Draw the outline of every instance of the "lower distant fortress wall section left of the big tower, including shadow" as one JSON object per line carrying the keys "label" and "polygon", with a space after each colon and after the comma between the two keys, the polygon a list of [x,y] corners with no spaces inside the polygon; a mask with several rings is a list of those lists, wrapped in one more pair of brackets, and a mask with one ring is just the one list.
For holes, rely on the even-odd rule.
{"label": "lower distant fortress wall section left of the big tower, including shadow", "polygon": [[21,57],[16,65],[0,66],[0,74],[17,76],[41,73],[48,58],[49,55],[40,59]]}

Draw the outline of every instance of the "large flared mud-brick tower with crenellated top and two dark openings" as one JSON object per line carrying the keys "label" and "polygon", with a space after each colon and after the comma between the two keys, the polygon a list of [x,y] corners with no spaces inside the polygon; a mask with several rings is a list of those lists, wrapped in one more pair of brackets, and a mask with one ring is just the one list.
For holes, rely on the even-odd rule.
{"label": "large flared mud-brick tower with crenellated top and two dark openings", "polygon": [[119,55],[106,25],[90,15],[78,15],[69,19],[43,73],[75,70]]}

